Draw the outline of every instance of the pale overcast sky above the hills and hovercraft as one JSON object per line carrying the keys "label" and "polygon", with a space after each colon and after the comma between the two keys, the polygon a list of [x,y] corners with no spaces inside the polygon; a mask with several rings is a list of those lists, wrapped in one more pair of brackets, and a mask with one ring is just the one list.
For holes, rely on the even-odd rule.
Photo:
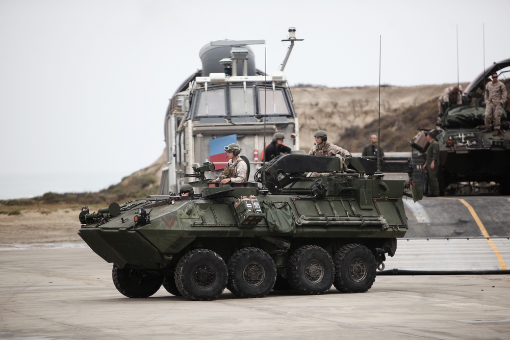
{"label": "pale overcast sky above the hills and hovercraft", "polygon": [[291,85],[377,85],[379,37],[382,84],[455,83],[457,68],[469,82],[510,57],[508,13],[508,0],[0,0],[0,178],[118,182],[150,165],[168,99],[210,41],[265,39],[251,48],[270,73],[295,27],[304,41],[285,69]]}

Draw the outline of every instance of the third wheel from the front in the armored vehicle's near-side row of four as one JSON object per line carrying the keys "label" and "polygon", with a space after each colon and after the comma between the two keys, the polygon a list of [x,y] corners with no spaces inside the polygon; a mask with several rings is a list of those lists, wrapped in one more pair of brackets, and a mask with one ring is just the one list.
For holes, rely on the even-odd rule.
{"label": "third wheel from the front in the armored vehicle's near-side row of four", "polygon": [[335,266],[327,251],[308,245],[294,251],[289,258],[287,273],[291,287],[299,293],[323,294],[333,284]]}

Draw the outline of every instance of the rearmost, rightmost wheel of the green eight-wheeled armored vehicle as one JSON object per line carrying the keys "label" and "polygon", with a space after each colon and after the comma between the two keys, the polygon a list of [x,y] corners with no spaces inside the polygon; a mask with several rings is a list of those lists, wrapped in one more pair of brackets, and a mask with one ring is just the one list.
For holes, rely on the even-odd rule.
{"label": "rearmost, rightmost wheel of the green eight-wheeled armored vehicle", "polygon": [[348,244],[334,256],[335,288],[342,293],[363,293],[375,281],[375,256],[365,246]]}

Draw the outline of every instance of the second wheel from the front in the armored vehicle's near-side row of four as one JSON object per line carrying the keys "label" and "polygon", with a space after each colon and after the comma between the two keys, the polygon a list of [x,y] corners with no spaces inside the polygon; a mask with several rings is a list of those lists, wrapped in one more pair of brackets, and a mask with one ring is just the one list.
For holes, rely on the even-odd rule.
{"label": "second wheel from the front in the armored vehicle's near-side row of four", "polygon": [[267,252],[243,248],[228,260],[228,289],[240,298],[262,298],[276,281],[276,265]]}

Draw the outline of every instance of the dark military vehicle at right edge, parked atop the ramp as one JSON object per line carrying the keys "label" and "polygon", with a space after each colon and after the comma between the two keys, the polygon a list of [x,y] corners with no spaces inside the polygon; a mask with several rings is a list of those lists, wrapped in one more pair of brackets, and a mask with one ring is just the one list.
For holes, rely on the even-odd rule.
{"label": "dark military vehicle at right edge, parked atop the ramp", "polygon": [[[510,131],[508,102],[503,104],[501,132],[498,136],[482,133],[485,103],[484,88],[493,72],[510,90],[505,74],[510,72],[510,59],[495,63],[482,72],[465,89],[463,103],[446,107],[436,127],[436,140],[440,145],[438,180],[441,194],[476,194],[499,192],[510,194]],[[510,93],[510,92],[509,92]],[[426,158],[429,129],[420,131],[411,143],[417,150],[413,157],[415,180],[427,192],[426,175],[421,171]]]}

